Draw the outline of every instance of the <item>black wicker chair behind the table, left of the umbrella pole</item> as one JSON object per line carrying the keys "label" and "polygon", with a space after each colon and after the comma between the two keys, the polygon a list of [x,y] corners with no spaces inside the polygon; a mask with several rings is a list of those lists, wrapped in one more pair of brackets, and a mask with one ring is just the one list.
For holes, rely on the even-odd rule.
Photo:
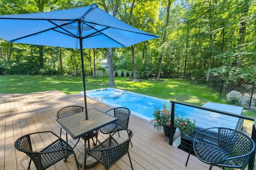
{"label": "black wicker chair behind the table, left of the umbrella pole", "polygon": [[[59,119],[59,118],[62,118],[62,117],[66,117],[66,116],[74,115],[76,113],[80,113],[82,111],[84,111],[84,107],[82,107],[82,106],[67,106],[67,107],[64,107],[64,108],[60,109],[57,112],[56,117],[57,117],[57,119]],[[62,127],[60,127],[60,137],[61,137],[61,133],[62,133]],[[96,133],[91,132],[87,137],[89,137],[89,139],[92,139],[93,144],[96,145],[94,140],[93,140],[93,137],[96,137]],[[74,145],[73,148],[76,147],[79,140],[80,140],[80,138],[78,139],[78,141],[76,142],[76,144]],[[85,139],[85,140],[88,140],[88,139]],[[66,142],[68,143],[68,133],[66,133]]]}

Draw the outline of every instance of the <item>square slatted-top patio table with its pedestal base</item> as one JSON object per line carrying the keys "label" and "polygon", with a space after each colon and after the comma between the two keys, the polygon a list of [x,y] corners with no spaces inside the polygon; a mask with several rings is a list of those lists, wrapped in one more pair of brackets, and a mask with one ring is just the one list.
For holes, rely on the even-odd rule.
{"label": "square slatted-top patio table with its pedestal base", "polygon": [[[89,133],[118,120],[118,118],[95,108],[88,110],[87,120],[85,119],[84,113],[85,112],[82,111],[74,115],[56,119],[56,121],[73,139],[78,139],[79,137],[86,139],[86,135]],[[84,140],[84,148],[86,148],[86,140]],[[90,148],[89,141],[88,148]],[[78,156],[78,164],[83,167],[83,170],[95,166],[98,163],[94,158],[87,156],[86,162],[88,161],[88,163],[86,163],[85,167],[84,158],[84,152],[81,152]]]}

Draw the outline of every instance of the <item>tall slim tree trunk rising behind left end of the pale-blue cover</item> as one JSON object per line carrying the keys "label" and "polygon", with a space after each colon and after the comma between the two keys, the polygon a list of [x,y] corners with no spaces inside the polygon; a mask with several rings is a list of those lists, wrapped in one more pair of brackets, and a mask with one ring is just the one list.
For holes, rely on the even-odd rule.
{"label": "tall slim tree trunk rising behind left end of the pale-blue cover", "polygon": [[209,60],[208,60],[208,72],[207,72],[207,78],[206,81],[209,82],[210,80],[210,70],[211,70],[211,63],[212,63],[212,0],[209,0],[210,4],[210,14],[209,14],[209,25],[210,25],[210,42],[209,42]]}

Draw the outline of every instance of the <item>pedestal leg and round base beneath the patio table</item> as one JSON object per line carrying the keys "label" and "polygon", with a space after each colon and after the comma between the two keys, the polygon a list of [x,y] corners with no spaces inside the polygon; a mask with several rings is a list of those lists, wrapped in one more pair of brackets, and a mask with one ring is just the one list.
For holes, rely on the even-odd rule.
{"label": "pedestal leg and round base beneath the patio table", "polygon": [[[86,138],[84,138],[84,139],[86,139]],[[90,148],[89,139],[88,139],[88,148]],[[84,140],[84,150],[85,149],[86,149],[86,140]],[[93,167],[93,166],[95,166],[96,164],[99,163],[98,160],[94,159],[92,156],[90,156],[88,154],[86,156],[86,162],[84,162],[84,160],[85,160],[85,155],[84,155],[84,151],[83,151],[78,156],[78,165],[80,167],[82,167],[82,170],[85,170],[85,168],[91,168],[91,167]]]}

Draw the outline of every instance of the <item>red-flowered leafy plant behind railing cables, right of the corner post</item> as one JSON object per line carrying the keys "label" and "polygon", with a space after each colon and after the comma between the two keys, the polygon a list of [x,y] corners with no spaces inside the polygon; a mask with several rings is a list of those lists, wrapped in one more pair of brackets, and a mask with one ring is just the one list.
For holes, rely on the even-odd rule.
{"label": "red-flowered leafy plant behind railing cables, right of the corner post", "polygon": [[176,125],[178,129],[184,134],[189,135],[196,128],[196,120],[194,122],[190,121],[189,118],[185,118],[182,115],[176,118]]}

